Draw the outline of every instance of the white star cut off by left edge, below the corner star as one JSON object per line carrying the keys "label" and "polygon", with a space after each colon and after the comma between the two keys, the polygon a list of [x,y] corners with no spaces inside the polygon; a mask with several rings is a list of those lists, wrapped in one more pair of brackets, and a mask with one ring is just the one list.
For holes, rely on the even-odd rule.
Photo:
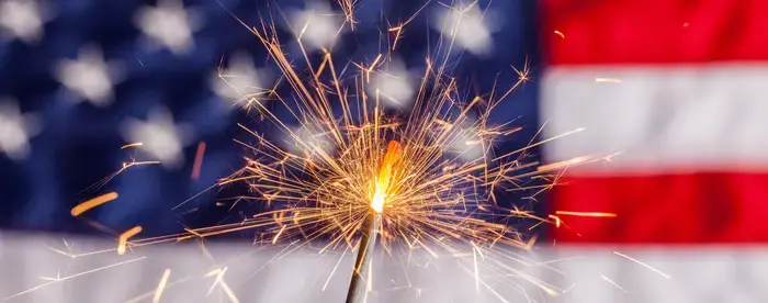
{"label": "white star cut off by left edge, below the corner star", "polygon": [[21,114],[14,101],[0,100],[0,153],[12,160],[22,160],[30,153],[30,137],[39,133],[35,115]]}

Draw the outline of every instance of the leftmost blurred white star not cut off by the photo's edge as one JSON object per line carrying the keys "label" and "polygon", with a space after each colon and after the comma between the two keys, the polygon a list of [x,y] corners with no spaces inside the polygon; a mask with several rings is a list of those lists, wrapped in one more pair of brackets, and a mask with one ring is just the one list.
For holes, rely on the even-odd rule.
{"label": "leftmost blurred white star not cut off by the photo's edge", "polygon": [[120,66],[105,63],[98,47],[80,49],[77,60],[63,59],[56,66],[55,77],[76,100],[84,99],[97,106],[112,103],[112,86],[121,81]]}

